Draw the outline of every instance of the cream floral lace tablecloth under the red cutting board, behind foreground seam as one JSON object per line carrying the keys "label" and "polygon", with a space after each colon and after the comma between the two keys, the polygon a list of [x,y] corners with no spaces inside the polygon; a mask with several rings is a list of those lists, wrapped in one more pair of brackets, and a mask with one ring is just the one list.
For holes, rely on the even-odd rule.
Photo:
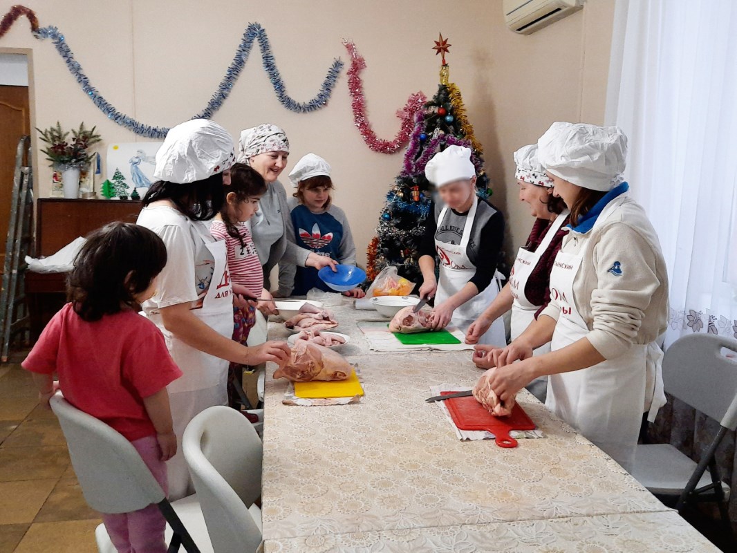
{"label": "cream floral lace tablecloth under the red cutting board, behind foreground seam", "polygon": [[265,540],[665,509],[524,390],[517,400],[544,439],[515,449],[459,441],[425,398],[433,385],[475,382],[467,352],[353,361],[366,395],[347,406],[282,405],[287,381],[267,367]]}

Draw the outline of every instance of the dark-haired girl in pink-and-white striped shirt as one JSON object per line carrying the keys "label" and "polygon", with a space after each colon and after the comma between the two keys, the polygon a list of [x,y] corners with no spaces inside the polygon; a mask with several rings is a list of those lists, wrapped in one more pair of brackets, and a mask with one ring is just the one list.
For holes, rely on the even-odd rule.
{"label": "dark-haired girl in pink-and-white striped shirt", "polygon": [[[264,274],[256,246],[246,222],[259,209],[259,199],[266,192],[264,178],[246,164],[237,163],[230,170],[230,184],[223,178],[226,201],[215,216],[210,233],[215,240],[226,241],[228,271],[234,293],[245,298],[271,299],[264,289]],[[248,333],[256,323],[256,302],[245,308],[233,307],[233,339],[245,345]]]}

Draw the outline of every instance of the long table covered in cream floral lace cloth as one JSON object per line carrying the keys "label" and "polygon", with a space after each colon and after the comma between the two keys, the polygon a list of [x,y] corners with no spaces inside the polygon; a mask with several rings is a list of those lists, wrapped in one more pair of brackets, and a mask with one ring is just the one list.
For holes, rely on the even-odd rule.
{"label": "long table covered in cream floral lace cloth", "polygon": [[[566,543],[596,539],[623,551],[717,551],[524,390],[517,401],[545,438],[514,449],[459,441],[425,398],[433,385],[475,382],[469,352],[368,352],[353,327],[376,313],[346,305],[335,314],[362,352],[347,357],[366,395],[285,406],[288,383],[267,366],[266,551],[570,551]],[[270,324],[270,336],[283,332]]]}

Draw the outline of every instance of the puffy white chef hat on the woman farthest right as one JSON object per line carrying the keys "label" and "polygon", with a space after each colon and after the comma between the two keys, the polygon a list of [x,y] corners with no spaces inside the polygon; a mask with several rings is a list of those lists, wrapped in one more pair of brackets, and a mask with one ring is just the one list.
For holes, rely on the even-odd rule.
{"label": "puffy white chef hat on the woman farthest right", "polygon": [[627,137],[619,127],[555,122],[537,147],[545,170],[579,187],[607,192],[624,181]]}

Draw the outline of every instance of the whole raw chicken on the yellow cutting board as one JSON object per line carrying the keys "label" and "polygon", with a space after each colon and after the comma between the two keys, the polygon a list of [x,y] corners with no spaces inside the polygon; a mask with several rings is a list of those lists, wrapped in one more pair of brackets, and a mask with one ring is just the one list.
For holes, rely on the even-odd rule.
{"label": "whole raw chicken on the yellow cutting board", "polygon": [[294,343],[290,360],[274,371],[274,378],[293,382],[346,380],[352,370],[342,355],[310,341],[298,340]]}

